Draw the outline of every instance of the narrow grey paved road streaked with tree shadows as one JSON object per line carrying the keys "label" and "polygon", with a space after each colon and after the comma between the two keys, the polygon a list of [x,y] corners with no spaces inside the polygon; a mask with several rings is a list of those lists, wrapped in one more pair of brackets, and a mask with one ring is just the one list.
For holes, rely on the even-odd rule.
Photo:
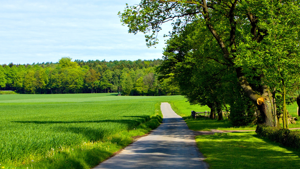
{"label": "narrow grey paved road streaked with tree shadows", "polygon": [[96,169],[207,169],[194,134],[170,104],[162,103],[163,123]]}

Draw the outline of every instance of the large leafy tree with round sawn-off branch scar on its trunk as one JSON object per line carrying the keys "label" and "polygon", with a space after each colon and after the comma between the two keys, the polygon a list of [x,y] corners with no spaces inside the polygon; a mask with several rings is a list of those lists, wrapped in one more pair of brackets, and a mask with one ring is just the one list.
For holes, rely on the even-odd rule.
{"label": "large leafy tree with round sawn-off branch scar on its trunk", "polygon": [[[238,82],[243,95],[261,113],[262,123],[278,127],[276,92],[270,91],[282,91],[279,80],[289,89],[299,81],[299,4],[283,0],[142,0],[138,5],[127,5],[119,16],[128,32],[146,34],[148,46],[157,43],[156,35],[165,22],[173,22],[172,38],[188,25],[195,25],[201,36],[192,38],[195,43],[189,50],[227,66],[230,74],[235,74],[232,81]],[[195,34],[191,32],[189,37]],[[184,57],[188,55],[184,47],[180,50]]]}

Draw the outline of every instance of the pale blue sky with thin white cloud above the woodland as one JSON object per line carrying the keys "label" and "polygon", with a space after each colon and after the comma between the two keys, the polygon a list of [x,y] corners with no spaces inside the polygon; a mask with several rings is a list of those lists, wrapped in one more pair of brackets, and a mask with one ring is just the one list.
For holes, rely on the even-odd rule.
{"label": "pale blue sky with thin white cloud above the woodland", "polygon": [[162,59],[163,25],[156,48],[145,35],[128,33],[117,15],[140,0],[1,0],[0,64],[88,60]]}

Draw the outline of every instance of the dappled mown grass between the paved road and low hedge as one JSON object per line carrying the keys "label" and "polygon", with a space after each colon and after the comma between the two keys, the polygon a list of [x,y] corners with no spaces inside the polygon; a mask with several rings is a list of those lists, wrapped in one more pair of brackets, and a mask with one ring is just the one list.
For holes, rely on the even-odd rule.
{"label": "dappled mown grass between the paved road and low hedge", "polygon": [[210,169],[299,168],[299,151],[261,139],[254,132],[216,133],[196,136]]}

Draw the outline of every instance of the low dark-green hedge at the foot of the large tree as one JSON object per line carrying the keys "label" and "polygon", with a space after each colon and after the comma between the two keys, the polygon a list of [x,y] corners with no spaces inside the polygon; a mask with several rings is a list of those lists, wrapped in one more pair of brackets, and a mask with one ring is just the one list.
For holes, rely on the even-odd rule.
{"label": "low dark-green hedge at the foot of the large tree", "polygon": [[300,132],[289,129],[279,129],[266,125],[257,125],[255,132],[261,137],[268,138],[283,146],[300,148]]}

